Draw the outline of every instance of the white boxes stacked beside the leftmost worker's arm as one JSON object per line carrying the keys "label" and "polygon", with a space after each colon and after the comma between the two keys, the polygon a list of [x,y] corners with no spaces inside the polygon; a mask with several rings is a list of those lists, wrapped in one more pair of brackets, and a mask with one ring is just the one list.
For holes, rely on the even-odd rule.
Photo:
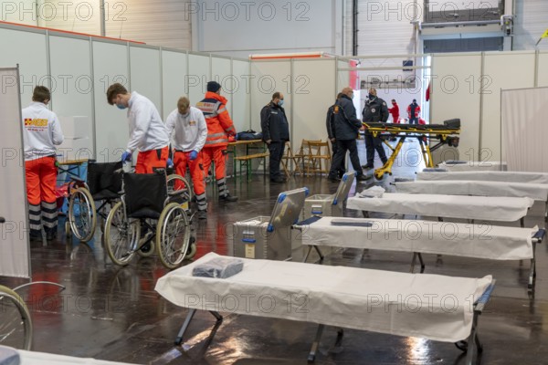
{"label": "white boxes stacked beside the leftmost worker's arm", "polygon": [[65,141],[58,146],[58,161],[88,160],[93,158],[90,117],[59,116]]}

